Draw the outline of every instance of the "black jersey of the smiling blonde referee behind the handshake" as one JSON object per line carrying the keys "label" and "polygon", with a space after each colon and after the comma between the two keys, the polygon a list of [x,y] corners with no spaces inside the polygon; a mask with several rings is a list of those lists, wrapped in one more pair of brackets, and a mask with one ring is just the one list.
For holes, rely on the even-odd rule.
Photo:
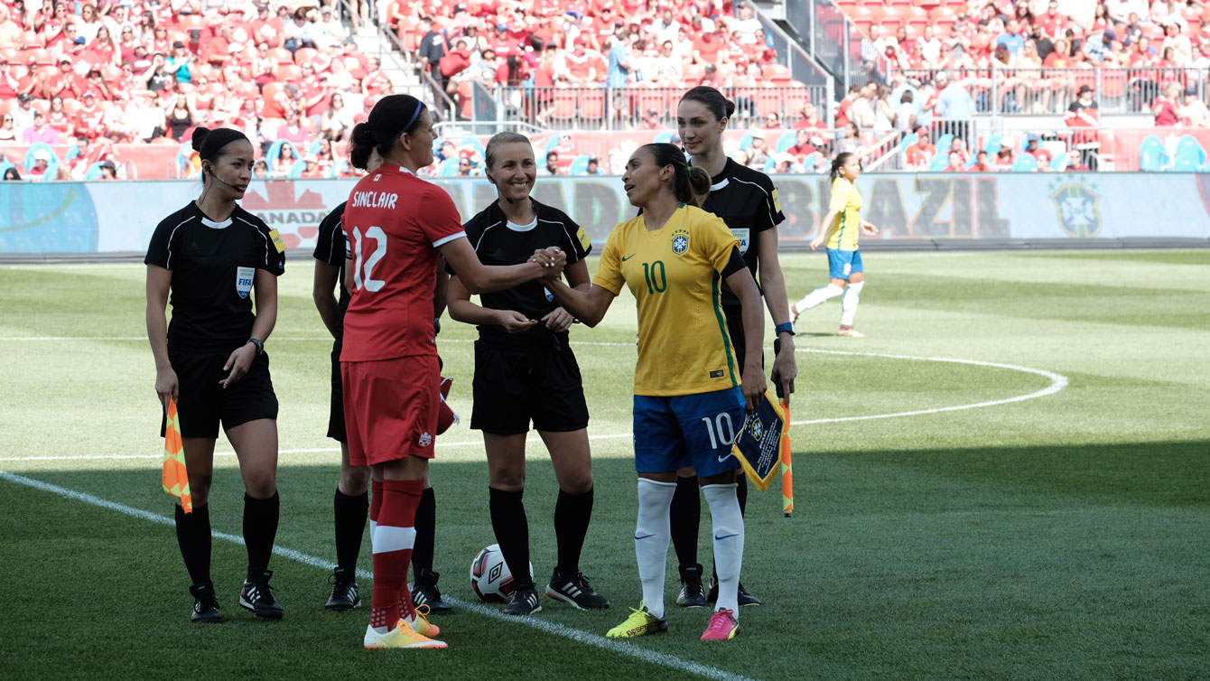
{"label": "black jersey of the smiling blonde referee behind the handshake", "polygon": [[[567,264],[578,262],[588,255],[593,247],[588,233],[566,213],[538,203],[535,200],[534,212],[537,218],[529,225],[515,225],[505,218],[496,202],[482,213],[471,218],[465,225],[467,239],[484,265],[519,265],[525,262],[540,248],[558,246],[567,254]],[[450,273],[456,275],[453,270]],[[530,319],[541,319],[559,306],[554,295],[542,285],[542,282],[526,282],[511,289],[479,295],[479,302],[491,310],[514,310]],[[537,324],[524,334],[509,334],[502,327],[479,327],[479,336],[506,341],[506,339],[547,337],[549,331]]]}

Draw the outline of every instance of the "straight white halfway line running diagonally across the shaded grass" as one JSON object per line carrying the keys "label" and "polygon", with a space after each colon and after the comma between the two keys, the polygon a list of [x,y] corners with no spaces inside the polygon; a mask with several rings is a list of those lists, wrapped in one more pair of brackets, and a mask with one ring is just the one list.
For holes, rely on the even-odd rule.
{"label": "straight white halfway line running diagonally across the shaded grass", "polygon": [[[52,485],[50,483],[35,480],[33,478],[25,478],[24,475],[17,475],[13,473],[8,473],[6,471],[0,471],[0,478],[8,480],[10,483],[25,485],[27,487],[34,487],[36,490],[41,490],[45,492],[52,492],[62,497],[71,498],[75,501],[82,501],[92,506],[131,515],[140,520],[146,520],[149,523],[156,523],[159,525],[168,525],[168,526],[173,526],[175,524],[175,521],[172,518],[168,518],[167,515],[157,515],[155,513],[143,510],[140,508],[134,508],[122,503],[108,501],[90,494],[79,492],[76,490],[69,490],[67,487],[60,487],[58,485]],[[243,546],[243,538],[236,535],[229,535],[226,532],[217,532],[217,531],[212,532],[212,535],[218,539]],[[302,552],[288,549],[276,544],[273,546],[273,553],[282,558],[293,560],[295,562],[301,562],[311,567],[318,567],[322,570],[332,570],[333,567],[335,567],[335,564],[323,560],[322,558],[316,558],[313,555],[309,555]],[[363,579],[374,578],[373,573],[367,570],[358,570],[357,576]],[[468,602],[451,596],[444,596],[444,598],[453,605],[462,610],[466,610],[468,612],[473,612],[476,614],[491,617],[494,619],[500,619],[502,622],[508,622],[512,625],[532,627],[534,629],[544,631],[547,634],[561,636],[564,639],[570,639],[572,641],[598,647],[609,652],[623,654],[627,657],[633,657],[647,664],[657,666],[667,666],[669,669],[675,669],[678,671],[687,671],[696,676],[702,676],[704,679],[715,679],[718,681],[754,681],[748,676],[741,676],[738,674],[724,671],[721,669],[682,659],[676,656],[649,651],[647,648],[641,648],[634,644],[623,644],[620,641],[606,639],[597,634],[589,634],[588,631],[582,631],[580,629],[574,629],[571,627],[565,627],[563,624],[547,622],[537,617],[509,617],[507,614],[503,614],[499,610],[486,607],[476,602]]]}

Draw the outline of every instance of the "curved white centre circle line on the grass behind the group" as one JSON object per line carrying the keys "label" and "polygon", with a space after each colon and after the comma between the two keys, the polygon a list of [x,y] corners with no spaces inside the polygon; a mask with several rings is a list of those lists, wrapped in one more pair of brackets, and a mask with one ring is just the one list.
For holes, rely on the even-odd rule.
{"label": "curved white centre circle line on the grass behind the group", "polygon": [[[0,339],[4,340],[4,339]],[[113,340],[113,339],[109,339]],[[448,341],[445,341],[448,342]],[[472,342],[472,341],[455,341],[455,342]],[[578,342],[577,345],[597,345],[597,346],[611,346],[611,347],[630,347],[630,344],[624,342]],[[883,359],[906,359],[914,362],[944,362],[950,364],[968,364],[972,367],[991,367],[993,369],[1008,369],[1012,371],[1021,371],[1025,374],[1035,374],[1043,376],[1050,381],[1050,385],[1039,389],[1031,392],[1028,394],[1019,394],[1014,397],[1008,397],[1004,399],[992,399],[986,402],[975,402],[970,404],[958,404],[953,406],[934,406],[930,409],[915,409],[911,411],[895,411],[891,414],[868,414],[864,416],[839,416],[831,419],[808,419],[803,421],[791,421],[791,426],[816,426],[819,423],[843,423],[848,421],[872,421],[876,419],[899,419],[904,416],[924,416],[929,414],[943,414],[946,411],[964,411],[968,409],[983,409],[986,406],[997,406],[1001,404],[1012,404],[1014,402],[1025,402],[1028,399],[1037,399],[1041,397],[1051,396],[1065,387],[1067,387],[1067,376],[1062,374],[1056,374],[1054,371],[1047,371],[1045,369],[1033,369],[1031,367],[1020,367],[1016,364],[1002,364],[998,362],[983,362],[979,359],[958,359],[953,357],[917,357],[914,354],[886,354],[881,352],[858,352],[858,351],[843,351],[843,350],[813,350],[813,348],[801,348],[797,352],[814,352],[818,354],[847,354],[847,356],[859,356],[859,357],[880,357]],[[590,440],[605,440],[605,439],[618,439],[629,438],[633,433],[605,433],[589,435]],[[530,437],[526,439],[529,443],[538,443],[540,438]],[[437,446],[450,448],[450,446],[477,446],[482,445],[482,440],[468,440],[468,442],[438,442]],[[323,452],[335,452],[340,451],[339,448],[312,448],[312,449],[283,449],[278,454],[323,454]],[[234,451],[217,451],[214,456],[235,456]],[[103,460],[103,461],[120,461],[120,460],[156,460],[162,458],[162,454],[119,454],[119,455],[82,455],[82,456],[11,456],[0,457],[2,461],[88,461],[88,460]]]}

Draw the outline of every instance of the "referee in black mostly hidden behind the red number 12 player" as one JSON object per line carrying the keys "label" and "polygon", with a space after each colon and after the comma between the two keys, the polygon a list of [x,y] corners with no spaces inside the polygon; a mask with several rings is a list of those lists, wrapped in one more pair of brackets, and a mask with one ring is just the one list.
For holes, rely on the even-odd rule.
{"label": "referee in black mostly hidden behind the red number 12 player", "polygon": [[[373,173],[381,163],[378,150],[371,149],[368,158],[361,157],[364,149],[350,149],[350,163],[355,168]],[[347,203],[347,202],[346,202]],[[348,308],[348,289],[345,287],[345,260],[348,254],[348,238],[342,229],[345,203],[341,203],[319,223],[319,235],[315,243],[315,282],[311,296],[319,311],[323,324],[332,333],[332,409],[328,415],[328,437],[340,443],[340,481],[336,484],[336,496],[333,500],[334,527],[336,536],[336,569],[330,577],[332,596],[325,608],[348,611],[362,604],[357,588],[357,556],[362,550],[362,537],[365,535],[367,512],[370,510],[370,498],[367,485],[375,487],[374,501],[381,503],[381,483],[370,481],[370,472],[365,466],[348,463],[348,445],[345,435],[345,400],[340,380],[340,350],[344,335],[345,310]],[[445,272],[438,277],[438,288],[444,290]],[[339,288],[339,298],[333,295]],[[444,295],[438,295],[438,299]],[[436,307],[440,317],[444,305]],[[434,324],[437,322],[434,321]],[[371,513],[378,518],[378,513]],[[416,576],[411,600],[416,606],[428,606],[431,614],[446,614],[453,611],[442,600],[437,588],[439,575],[433,571],[433,547],[437,530],[437,500],[433,487],[425,480],[425,491],[416,508],[416,541],[411,552],[411,569]],[[371,530],[373,532],[373,530]]]}

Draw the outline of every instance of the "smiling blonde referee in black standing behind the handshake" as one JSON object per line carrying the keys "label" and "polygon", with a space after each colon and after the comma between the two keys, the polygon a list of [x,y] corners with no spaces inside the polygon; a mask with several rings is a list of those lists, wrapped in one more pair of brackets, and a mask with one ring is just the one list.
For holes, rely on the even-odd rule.
{"label": "smiling blonde referee in black standing behind the handshake", "polygon": [[[567,284],[587,292],[592,285],[584,262],[592,250],[588,235],[563,210],[530,196],[537,163],[529,139],[497,133],[484,156],[497,200],[463,225],[479,261],[515,265],[535,249],[558,247],[567,255]],[[580,610],[607,608],[609,600],[580,572],[580,552],[593,513],[593,471],[588,405],[567,334],[572,317],[541,282],[484,294],[480,305],[469,298],[460,278],[453,277],[450,317],[479,328],[471,427],[483,431],[491,527],[515,584],[503,612],[542,610],[530,577],[529,520],[522,502],[530,421],[546,444],[559,483],[554,506],[558,561],[546,595]]]}

